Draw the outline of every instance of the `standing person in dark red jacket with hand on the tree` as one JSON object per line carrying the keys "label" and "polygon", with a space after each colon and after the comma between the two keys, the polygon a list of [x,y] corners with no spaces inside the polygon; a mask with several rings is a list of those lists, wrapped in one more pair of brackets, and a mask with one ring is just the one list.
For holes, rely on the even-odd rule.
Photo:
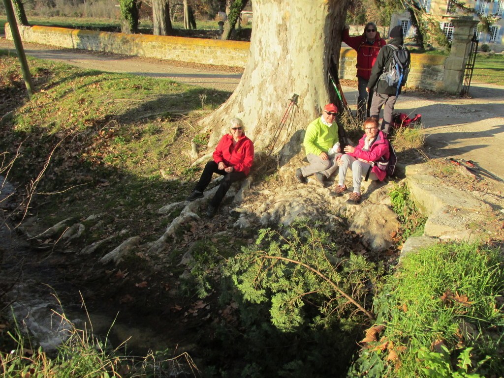
{"label": "standing person in dark red jacket with hand on the tree", "polygon": [[387,41],[380,37],[376,30],[376,25],[368,22],[364,27],[362,35],[357,37],[349,36],[350,28],[345,25],[343,29],[343,42],[357,51],[357,80],[359,97],[357,99],[357,116],[359,118],[369,117],[371,107],[371,96],[366,92],[367,82],[371,75],[371,68],[380,52],[380,49],[387,44]]}

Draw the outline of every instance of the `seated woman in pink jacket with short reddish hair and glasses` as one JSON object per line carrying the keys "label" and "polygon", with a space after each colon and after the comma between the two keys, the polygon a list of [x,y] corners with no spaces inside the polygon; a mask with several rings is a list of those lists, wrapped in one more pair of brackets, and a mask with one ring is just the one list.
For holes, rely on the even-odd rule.
{"label": "seated woman in pink jacket with short reddish hair and glasses", "polygon": [[334,189],[336,196],[342,196],[348,189],[345,185],[345,176],[348,168],[353,173],[353,192],[350,193],[348,202],[360,203],[360,184],[362,177],[370,180],[383,181],[387,176],[390,151],[389,141],[380,131],[378,120],[367,118],[364,121],[364,135],[360,138],[357,147],[347,145],[345,155],[338,158],[339,179],[338,186]]}

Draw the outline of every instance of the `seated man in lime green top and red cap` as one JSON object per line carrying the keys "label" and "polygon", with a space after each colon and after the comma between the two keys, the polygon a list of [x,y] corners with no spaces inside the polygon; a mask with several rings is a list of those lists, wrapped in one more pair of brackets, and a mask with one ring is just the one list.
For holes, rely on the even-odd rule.
{"label": "seated man in lime green top and red cap", "polygon": [[338,124],[336,114],[338,108],[327,104],[320,118],[311,122],[304,134],[304,150],[309,165],[296,170],[295,178],[305,184],[306,177],[314,175],[317,182],[324,188],[326,180],[338,169],[336,157],[341,155],[338,143]]}

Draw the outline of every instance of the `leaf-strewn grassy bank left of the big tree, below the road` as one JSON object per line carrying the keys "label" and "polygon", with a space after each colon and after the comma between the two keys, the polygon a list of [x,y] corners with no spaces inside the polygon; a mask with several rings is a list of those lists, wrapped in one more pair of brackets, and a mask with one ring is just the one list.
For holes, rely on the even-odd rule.
{"label": "leaf-strewn grassy bank left of the big tree, below the road", "polygon": [[0,60],[0,114],[10,114],[0,124],[0,148],[13,157],[22,145],[11,180],[23,186],[51,156],[38,192],[57,194],[34,198],[47,222],[106,213],[86,243],[129,229],[157,238],[168,217],[157,210],[183,200],[200,173],[188,155],[192,139],[204,138],[199,95],[206,93],[210,112],[230,93],[39,59],[29,66],[36,93],[26,102],[18,60]]}

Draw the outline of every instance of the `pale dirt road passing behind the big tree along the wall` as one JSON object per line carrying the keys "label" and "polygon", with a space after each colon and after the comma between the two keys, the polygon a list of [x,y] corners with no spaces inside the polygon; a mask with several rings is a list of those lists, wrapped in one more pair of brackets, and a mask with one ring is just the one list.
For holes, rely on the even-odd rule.
{"label": "pale dirt road passing behind the big tree along the wall", "polygon": [[[14,50],[12,41],[0,37],[0,48]],[[155,78],[167,78],[186,84],[233,91],[241,70],[178,61],[124,56],[26,43],[26,54],[42,59],[63,61],[82,68],[109,72],[130,72]],[[355,105],[355,87],[343,87],[347,100]],[[504,87],[473,83],[470,98],[437,97],[431,93],[402,95],[396,110],[422,115],[426,127],[426,151],[429,158],[473,160],[497,178],[504,179]]]}

